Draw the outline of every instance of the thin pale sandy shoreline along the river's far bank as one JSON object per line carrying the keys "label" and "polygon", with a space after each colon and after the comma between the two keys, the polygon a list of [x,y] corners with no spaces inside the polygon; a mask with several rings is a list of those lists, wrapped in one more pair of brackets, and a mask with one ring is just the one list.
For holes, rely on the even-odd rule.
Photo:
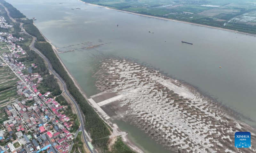
{"label": "thin pale sandy shoreline along the river's far bank", "polygon": [[174,19],[170,19],[170,18],[156,17],[156,16],[152,16],[152,15],[145,15],[145,14],[140,14],[140,13],[131,12],[131,11],[118,10],[118,9],[110,8],[110,7],[107,7],[107,6],[86,3],[86,2],[84,2],[82,0],[78,0],[78,1],[81,1],[84,4],[89,4],[89,5],[93,5],[93,6],[103,7],[103,8],[109,9],[109,10],[115,10],[115,11],[124,12],[124,13],[130,13],[130,14],[134,14],[134,15],[140,15],[140,16],[144,16],[144,17],[158,18],[158,19],[163,19],[163,20],[168,20],[168,21],[186,23],[186,24],[190,24],[190,25],[198,25],[198,26],[203,26],[203,27],[208,27],[208,28],[213,28],[213,29],[219,29],[219,30],[225,30],[225,31],[229,31],[229,32],[235,32],[235,33],[241,33],[241,34],[245,34],[245,35],[256,36],[256,34],[244,33],[244,32],[239,32],[239,31],[236,31],[236,30],[231,30],[231,29],[226,29],[226,28],[221,28],[221,27],[216,27],[216,26],[201,25],[201,24],[197,24],[197,23],[191,23],[191,22],[186,22],[186,21],[174,20]]}

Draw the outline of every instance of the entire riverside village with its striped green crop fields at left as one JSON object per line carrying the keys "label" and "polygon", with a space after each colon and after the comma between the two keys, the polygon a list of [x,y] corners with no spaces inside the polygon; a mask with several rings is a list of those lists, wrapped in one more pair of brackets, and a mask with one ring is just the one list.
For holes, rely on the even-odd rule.
{"label": "entire riverside village with its striped green crop fields at left", "polygon": [[[12,25],[1,17],[0,27]],[[4,146],[0,152],[67,153],[74,138],[69,131],[75,122],[65,114],[68,106],[61,106],[50,91],[39,90],[43,77],[33,73],[36,63],[19,61],[28,56],[16,44],[24,38],[3,32],[0,36],[0,145]]]}

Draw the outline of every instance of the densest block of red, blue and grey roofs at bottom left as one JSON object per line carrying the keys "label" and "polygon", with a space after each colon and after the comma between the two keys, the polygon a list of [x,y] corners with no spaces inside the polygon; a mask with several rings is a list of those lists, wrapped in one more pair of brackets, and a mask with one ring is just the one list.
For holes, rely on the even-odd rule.
{"label": "densest block of red, blue and grey roofs at bottom left", "polygon": [[72,123],[63,114],[64,107],[52,98],[44,100],[35,95],[33,105],[27,105],[28,99],[24,99],[4,107],[8,120],[0,130],[0,141],[9,142],[5,149],[12,153],[67,153],[73,134],[68,131]]}

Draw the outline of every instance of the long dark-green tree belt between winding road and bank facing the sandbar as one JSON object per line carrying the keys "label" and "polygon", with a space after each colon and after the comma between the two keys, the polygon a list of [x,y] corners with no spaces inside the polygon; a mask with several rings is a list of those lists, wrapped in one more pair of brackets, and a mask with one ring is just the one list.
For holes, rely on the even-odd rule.
{"label": "long dark-green tree belt between winding road and bank facing the sandbar", "polygon": [[61,65],[58,57],[55,55],[51,44],[48,42],[36,42],[35,47],[48,58],[48,60],[52,64],[52,68],[66,82],[68,91],[80,105],[81,110],[85,116],[84,126],[85,129],[91,134],[92,144],[94,144],[103,152],[107,151],[109,140],[107,136],[110,135],[109,129],[105,125],[104,121],[100,119],[99,115],[94,111],[92,106],[89,105],[84,96],[77,89],[73,80],[68,76],[68,73]]}

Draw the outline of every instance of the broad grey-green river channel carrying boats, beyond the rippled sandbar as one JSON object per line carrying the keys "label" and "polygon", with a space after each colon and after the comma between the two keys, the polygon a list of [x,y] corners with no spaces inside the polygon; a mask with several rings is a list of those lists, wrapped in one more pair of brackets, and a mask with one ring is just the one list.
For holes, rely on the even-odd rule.
{"label": "broad grey-green river channel carrying boats, beyond the rippled sandbar", "polygon": [[[133,15],[77,0],[7,2],[28,18],[36,17],[36,26],[59,51],[74,50],[59,55],[89,96],[99,92],[92,78],[95,63],[107,56],[125,57],[192,84],[256,126],[254,36]],[[84,48],[93,45],[100,46]]]}

